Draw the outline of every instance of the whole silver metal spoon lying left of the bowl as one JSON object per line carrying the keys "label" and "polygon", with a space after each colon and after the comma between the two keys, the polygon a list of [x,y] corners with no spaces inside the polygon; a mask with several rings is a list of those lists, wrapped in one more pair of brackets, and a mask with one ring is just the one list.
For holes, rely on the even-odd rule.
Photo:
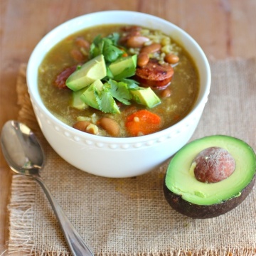
{"label": "whole silver metal spoon lying left of the bowl", "polygon": [[65,240],[74,256],[94,255],[85,245],[78,231],[70,223],[59,204],[43,183],[39,172],[43,169],[44,154],[35,134],[25,124],[11,120],[4,124],[1,131],[1,149],[11,170],[36,180],[53,207],[54,213],[63,230]]}

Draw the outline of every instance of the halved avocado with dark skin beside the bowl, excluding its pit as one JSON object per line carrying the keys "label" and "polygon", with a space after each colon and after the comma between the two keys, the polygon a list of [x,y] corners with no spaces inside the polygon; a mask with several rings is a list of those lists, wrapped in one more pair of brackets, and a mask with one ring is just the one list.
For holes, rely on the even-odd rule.
{"label": "halved avocado with dark skin beside the bowl, excluding its pit", "polygon": [[[193,160],[204,149],[217,146],[235,159],[235,170],[216,183],[198,181]],[[240,139],[213,135],[183,146],[171,159],[164,178],[164,196],[178,213],[191,218],[213,218],[238,206],[248,196],[256,179],[256,155]]]}

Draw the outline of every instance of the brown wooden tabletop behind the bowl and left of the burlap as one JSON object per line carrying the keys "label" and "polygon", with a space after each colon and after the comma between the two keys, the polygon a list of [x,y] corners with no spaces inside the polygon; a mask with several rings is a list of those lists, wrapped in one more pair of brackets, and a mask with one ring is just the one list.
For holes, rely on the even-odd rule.
{"label": "brown wooden tabletop behind the bowl and left of the burlap", "polygon": [[[0,127],[18,116],[16,77],[21,63],[55,26],[105,10],[140,11],[165,18],[198,41],[209,59],[256,56],[255,0],[0,0]],[[131,21],[132,22],[132,21]],[[0,255],[8,239],[11,171],[0,151]]]}

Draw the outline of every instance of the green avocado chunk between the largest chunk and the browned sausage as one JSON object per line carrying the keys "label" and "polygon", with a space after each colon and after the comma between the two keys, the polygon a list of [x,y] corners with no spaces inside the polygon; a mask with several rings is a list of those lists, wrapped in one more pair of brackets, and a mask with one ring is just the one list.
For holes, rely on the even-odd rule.
{"label": "green avocado chunk between the largest chunk and the browned sausage", "polygon": [[137,66],[137,55],[122,57],[110,64],[110,72],[114,80],[129,78],[135,74]]}

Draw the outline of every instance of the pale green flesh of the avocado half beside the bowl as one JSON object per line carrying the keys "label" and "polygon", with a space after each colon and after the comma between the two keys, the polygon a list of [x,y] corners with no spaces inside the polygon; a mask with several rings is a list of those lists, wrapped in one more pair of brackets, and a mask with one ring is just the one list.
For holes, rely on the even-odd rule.
{"label": "pale green flesh of the avocado half beside the bowl", "polygon": [[[229,151],[235,159],[235,171],[217,183],[202,183],[193,174],[193,159],[203,150],[219,146]],[[228,201],[239,197],[255,176],[256,156],[254,151],[240,139],[215,135],[195,140],[176,153],[166,171],[165,186],[184,201],[199,206]]]}

